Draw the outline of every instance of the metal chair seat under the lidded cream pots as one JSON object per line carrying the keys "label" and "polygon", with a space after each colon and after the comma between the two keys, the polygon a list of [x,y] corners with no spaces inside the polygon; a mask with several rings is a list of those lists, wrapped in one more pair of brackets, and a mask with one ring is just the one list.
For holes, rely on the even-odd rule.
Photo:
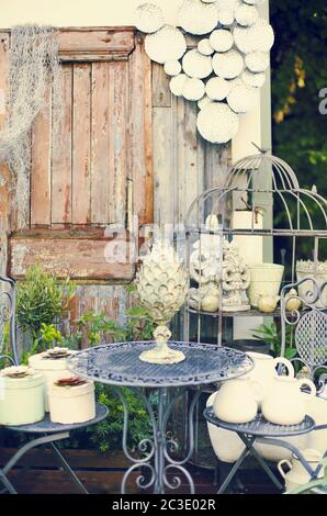
{"label": "metal chair seat under the lidded cream pots", "polygon": [[97,403],[95,411],[95,417],[93,419],[84,423],[76,423],[74,425],[61,425],[60,423],[53,423],[50,420],[49,414],[47,413],[44,419],[32,425],[5,425],[3,428],[11,431],[21,431],[23,434],[59,434],[61,431],[71,431],[78,428],[95,425],[102,419],[105,419],[109,414],[108,407],[102,403]]}

